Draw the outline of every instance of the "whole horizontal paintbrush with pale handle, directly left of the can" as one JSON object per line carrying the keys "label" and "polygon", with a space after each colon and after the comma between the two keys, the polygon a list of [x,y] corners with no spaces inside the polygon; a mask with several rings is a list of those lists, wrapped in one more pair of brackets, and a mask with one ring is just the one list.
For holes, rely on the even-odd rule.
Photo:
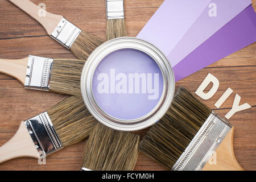
{"label": "whole horizontal paintbrush with pale handle, directly left of the can", "polygon": [[0,59],[0,72],[18,79],[28,89],[79,96],[84,63],[29,55],[17,60]]}

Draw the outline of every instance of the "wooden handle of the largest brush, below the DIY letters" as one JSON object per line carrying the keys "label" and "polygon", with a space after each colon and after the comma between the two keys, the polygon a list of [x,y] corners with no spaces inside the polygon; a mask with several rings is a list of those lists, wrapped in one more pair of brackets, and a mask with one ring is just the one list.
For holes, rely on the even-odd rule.
{"label": "wooden handle of the largest brush, below the DIY letters", "polygon": [[216,150],[216,164],[207,163],[203,168],[204,171],[243,171],[244,169],[238,164],[233,148],[234,127],[226,135]]}

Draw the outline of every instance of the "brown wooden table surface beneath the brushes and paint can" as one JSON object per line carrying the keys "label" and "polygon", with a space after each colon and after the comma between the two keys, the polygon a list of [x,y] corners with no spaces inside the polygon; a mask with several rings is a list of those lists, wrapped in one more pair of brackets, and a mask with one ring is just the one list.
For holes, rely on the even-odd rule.
{"label": "brown wooden table surface beneath the brushes and paint can", "polygon": [[[63,15],[84,31],[105,39],[104,0],[33,0],[37,5],[46,4],[46,9]],[[163,0],[126,0],[125,14],[129,36],[136,36],[148,19],[155,13]],[[256,0],[253,0],[256,9]],[[20,59],[27,55],[73,58],[72,53],[55,42],[42,26],[18,7],[6,0],[0,1],[0,57]],[[238,162],[246,170],[256,169],[256,44],[233,53],[207,68],[177,82],[195,93],[208,73],[220,80],[220,88],[213,98],[203,101],[216,110],[214,103],[230,87],[232,96],[217,109],[224,116],[231,109],[235,94],[241,103],[248,102],[251,109],[236,113],[230,122],[236,131],[234,149]],[[57,104],[67,96],[26,90],[10,76],[0,73],[0,146],[7,142],[18,129],[20,121],[33,117]],[[196,96],[197,97],[197,96]],[[198,97],[197,97],[198,98]],[[141,131],[140,134],[144,134]],[[0,164],[0,170],[80,170],[85,142],[75,144],[47,157],[46,165],[36,159],[19,158]],[[166,170],[154,160],[139,154],[135,170]]]}

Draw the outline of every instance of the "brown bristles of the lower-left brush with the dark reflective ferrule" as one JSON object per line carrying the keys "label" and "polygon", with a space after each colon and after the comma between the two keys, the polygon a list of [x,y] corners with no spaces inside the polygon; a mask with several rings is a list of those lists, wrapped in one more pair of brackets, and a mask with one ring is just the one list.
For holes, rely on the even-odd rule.
{"label": "brown bristles of the lower-left brush with the dark reflective ferrule", "polygon": [[64,147],[87,138],[97,123],[79,96],[69,96],[47,113]]}

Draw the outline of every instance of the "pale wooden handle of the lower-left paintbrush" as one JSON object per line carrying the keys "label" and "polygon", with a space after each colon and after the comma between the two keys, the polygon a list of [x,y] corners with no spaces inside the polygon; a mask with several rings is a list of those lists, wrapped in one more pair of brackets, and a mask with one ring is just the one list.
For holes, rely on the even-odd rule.
{"label": "pale wooden handle of the lower-left paintbrush", "polygon": [[24,122],[21,122],[14,137],[0,147],[0,163],[25,156],[36,159],[40,158],[26,125]]}

